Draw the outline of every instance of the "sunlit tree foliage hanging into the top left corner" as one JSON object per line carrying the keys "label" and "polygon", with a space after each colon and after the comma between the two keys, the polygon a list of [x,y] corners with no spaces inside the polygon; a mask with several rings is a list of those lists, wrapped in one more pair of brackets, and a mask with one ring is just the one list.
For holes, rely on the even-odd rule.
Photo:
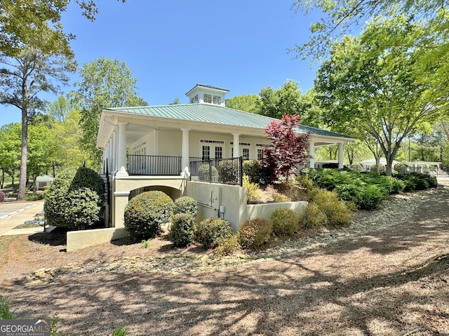
{"label": "sunlit tree foliage hanging into the top left corner", "polygon": [[[121,0],[125,2],[125,0]],[[71,0],[1,0],[0,53],[19,57],[25,48],[36,48],[43,54],[72,54],[67,34],[60,23],[61,15]],[[95,0],[73,0],[82,15],[95,20]]]}

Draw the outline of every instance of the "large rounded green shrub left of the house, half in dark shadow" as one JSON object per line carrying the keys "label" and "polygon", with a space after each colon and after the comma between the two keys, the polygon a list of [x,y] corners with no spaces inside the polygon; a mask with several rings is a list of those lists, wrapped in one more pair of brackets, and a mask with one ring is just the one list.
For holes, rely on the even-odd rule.
{"label": "large rounded green shrub left of the house, half in dark shadow", "polygon": [[46,191],[43,209],[49,225],[81,229],[101,217],[105,183],[94,170],[61,170]]}

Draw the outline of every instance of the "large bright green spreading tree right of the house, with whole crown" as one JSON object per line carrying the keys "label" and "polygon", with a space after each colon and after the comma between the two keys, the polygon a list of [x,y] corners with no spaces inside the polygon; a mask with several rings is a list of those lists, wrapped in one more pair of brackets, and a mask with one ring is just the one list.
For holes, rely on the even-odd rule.
{"label": "large bright green spreading tree right of the house, with whole crown", "polygon": [[[429,84],[417,62],[422,48],[410,47],[423,30],[403,17],[374,20],[359,38],[335,43],[315,81],[326,122],[337,132],[353,129],[375,140],[387,175],[403,139],[447,108],[446,95]],[[426,66],[429,72],[435,62]]]}

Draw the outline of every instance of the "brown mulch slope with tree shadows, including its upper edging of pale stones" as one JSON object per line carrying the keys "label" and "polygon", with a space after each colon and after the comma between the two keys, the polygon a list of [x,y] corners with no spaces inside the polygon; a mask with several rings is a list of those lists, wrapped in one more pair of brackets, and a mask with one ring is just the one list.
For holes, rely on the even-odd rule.
{"label": "brown mulch slope with tree shadows, including its upper edging of pale stones", "polygon": [[18,316],[58,314],[75,335],[117,325],[128,335],[449,335],[448,215],[441,185],[229,264],[85,256],[6,283],[4,294]]}

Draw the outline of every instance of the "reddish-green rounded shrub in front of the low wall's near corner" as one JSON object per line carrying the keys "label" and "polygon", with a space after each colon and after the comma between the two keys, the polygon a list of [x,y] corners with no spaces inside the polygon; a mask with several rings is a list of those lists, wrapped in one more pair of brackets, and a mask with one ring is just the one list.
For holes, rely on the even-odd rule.
{"label": "reddish-green rounded shrub in front of the low wall's near corner", "polygon": [[269,241],[273,222],[265,218],[246,220],[239,227],[239,241],[242,248],[258,248]]}

